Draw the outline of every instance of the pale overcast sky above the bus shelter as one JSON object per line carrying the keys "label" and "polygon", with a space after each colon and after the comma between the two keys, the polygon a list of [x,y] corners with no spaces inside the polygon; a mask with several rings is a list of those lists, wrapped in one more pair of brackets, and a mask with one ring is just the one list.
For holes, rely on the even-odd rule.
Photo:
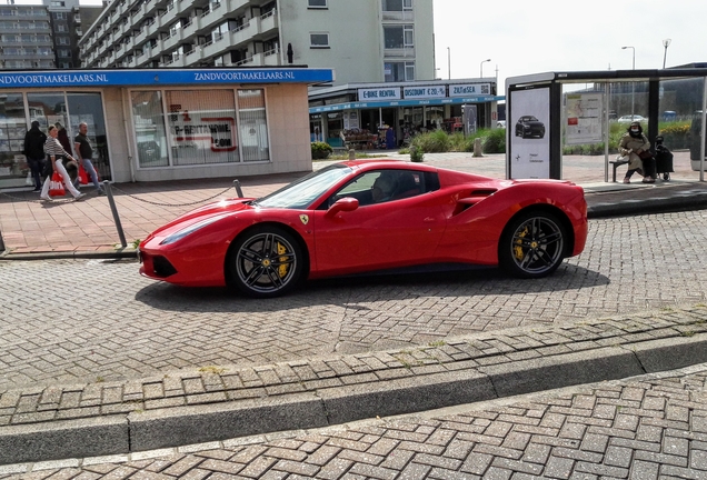
{"label": "pale overcast sky above the bus shelter", "polygon": [[491,59],[499,93],[508,77],[630,70],[634,50],[636,69],[660,69],[665,39],[666,68],[707,62],[707,0],[434,0],[434,16],[437,78],[479,78]]}

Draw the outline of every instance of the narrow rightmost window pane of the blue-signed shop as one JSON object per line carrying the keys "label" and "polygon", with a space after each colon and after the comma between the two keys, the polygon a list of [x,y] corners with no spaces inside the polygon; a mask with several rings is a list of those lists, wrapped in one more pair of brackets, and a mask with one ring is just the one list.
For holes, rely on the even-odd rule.
{"label": "narrow rightmost window pane of the blue-signed shop", "polygon": [[238,120],[243,161],[270,160],[268,119],[262,89],[238,90]]}

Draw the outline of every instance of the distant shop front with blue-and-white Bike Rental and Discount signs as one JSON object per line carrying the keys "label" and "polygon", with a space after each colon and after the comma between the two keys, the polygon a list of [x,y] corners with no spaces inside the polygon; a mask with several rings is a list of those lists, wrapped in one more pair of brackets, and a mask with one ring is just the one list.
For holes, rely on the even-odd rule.
{"label": "distant shop front with blue-and-white Bike Rental and Discount signs", "polygon": [[495,92],[487,79],[312,89],[310,137],[335,148],[399,148],[420,132],[466,131],[467,106],[475,106],[475,128],[496,128],[496,104],[504,97]]}

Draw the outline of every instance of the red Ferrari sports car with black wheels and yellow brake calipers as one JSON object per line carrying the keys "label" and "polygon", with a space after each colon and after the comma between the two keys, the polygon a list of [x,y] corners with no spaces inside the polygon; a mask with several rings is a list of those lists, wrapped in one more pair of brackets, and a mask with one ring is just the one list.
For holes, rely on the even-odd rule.
{"label": "red Ferrari sports car with black wheels and yellow brake calipers", "polygon": [[186,213],[142,241],[139,257],[156,280],[268,298],[305,279],[368,272],[500,266],[538,278],[586,238],[587,203],[572,182],[352,160]]}

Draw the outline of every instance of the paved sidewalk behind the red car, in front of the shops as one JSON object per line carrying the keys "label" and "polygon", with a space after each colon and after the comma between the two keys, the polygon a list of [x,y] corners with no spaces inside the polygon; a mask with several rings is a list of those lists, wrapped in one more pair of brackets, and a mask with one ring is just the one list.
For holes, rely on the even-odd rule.
{"label": "paved sidewalk behind the red car, in front of the shops", "polygon": [[[409,160],[409,156],[384,152],[387,158]],[[505,178],[505,156],[474,158],[471,153],[428,153],[425,162],[441,168]],[[318,169],[331,162],[315,162]],[[707,182],[689,168],[688,152],[675,153],[671,181],[655,184],[604,182],[604,157],[566,157],[564,178],[585,188],[589,217],[608,217],[707,208]],[[261,197],[306,172],[239,179],[243,194]],[[609,172],[609,179],[610,179]],[[624,173],[621,169],[619,176]],[[106,197],[84,187],[81,202],[39,201],[30,191],[0,192],[0,258],[131,257],[139,240],[167,221],[219,198],[236,197],[235,179],[200,179],[173,182],[118,183],[116,199],[126,248],[120,244],[116,222]]]}

